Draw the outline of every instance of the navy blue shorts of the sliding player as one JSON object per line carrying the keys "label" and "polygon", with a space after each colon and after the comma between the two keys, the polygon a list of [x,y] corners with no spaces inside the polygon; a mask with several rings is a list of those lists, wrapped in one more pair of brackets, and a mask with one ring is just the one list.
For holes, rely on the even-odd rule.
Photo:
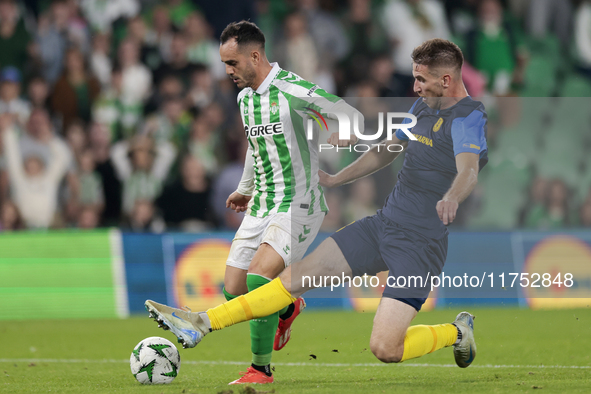
{"label": "navy blue shorts of the sliding player", "polygon": [[354,276],[389,271],[382,296],[400,300],[417,311],[429,296],[430,278],[441,273],[447,256],[447,233],[441,239],[425,238],[392,222],[381,211],[343,227],[331,237]]}

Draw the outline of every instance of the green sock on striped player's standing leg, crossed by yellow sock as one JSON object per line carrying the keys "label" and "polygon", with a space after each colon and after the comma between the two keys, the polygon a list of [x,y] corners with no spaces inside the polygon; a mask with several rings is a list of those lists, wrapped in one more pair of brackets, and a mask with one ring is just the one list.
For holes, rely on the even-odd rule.
{"label": "green sock on striped player's standing leg, crossed by yellow sock", "polygon": [[[248,291],[253,291],[269,283],[270,280],[260,275],[248,274],[246,284]],[[252,351],[252,363],[254,365],[271,364],[273,354],[273,341],[279,324],[279,312],[260,319],[250,321],[250,344]]]}

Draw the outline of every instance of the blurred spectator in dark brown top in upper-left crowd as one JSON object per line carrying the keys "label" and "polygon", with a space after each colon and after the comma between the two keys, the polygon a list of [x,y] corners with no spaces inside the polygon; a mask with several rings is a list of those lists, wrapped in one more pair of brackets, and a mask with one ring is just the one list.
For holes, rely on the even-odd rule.
{"label": "blurred spectator in dark brown top in upper-left crowd", "polygon": [[75,118],[89,122],[93,102],[100,90],[100,82],[88,72],[82,52],[70,48],[66,52],[65,72],[55,84],[50,98],[51,109],[64,128]]}

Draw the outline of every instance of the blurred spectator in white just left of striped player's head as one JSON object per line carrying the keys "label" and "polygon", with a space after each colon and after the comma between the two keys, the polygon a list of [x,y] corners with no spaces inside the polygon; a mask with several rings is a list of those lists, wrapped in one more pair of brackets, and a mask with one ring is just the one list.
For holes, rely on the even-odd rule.
{"label": "blurred spectator in white just left of striped player's head", "polygon": [[192,12],[187,15],[183,32],[187,39],[187,58],[191,63],[204,64],[216,80],[226,78],[220,62],[219,44],[211,37],[211,28],[203,15]]}

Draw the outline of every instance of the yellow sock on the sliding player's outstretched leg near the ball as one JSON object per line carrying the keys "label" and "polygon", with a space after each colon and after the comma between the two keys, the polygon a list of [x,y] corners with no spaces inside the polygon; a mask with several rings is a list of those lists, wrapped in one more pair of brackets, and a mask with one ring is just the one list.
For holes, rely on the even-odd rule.
{"label": "yellow sock on the sliding player's outstretched leg near the ball", "polygon": [[208,309],[207,316],[211,329],[221,330],[236,323],[269,316],[295,300],[281,280],[276,278],[245,295]]}

